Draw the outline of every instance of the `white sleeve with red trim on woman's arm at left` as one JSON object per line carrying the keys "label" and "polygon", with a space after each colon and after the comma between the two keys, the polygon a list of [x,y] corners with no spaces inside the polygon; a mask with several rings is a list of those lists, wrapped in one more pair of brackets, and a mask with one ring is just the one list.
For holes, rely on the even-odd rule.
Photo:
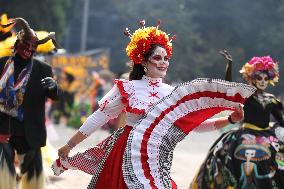
{"label": "white sleeve with red trim on woman's arm at left", "polygon": [[110,119],[116,118],[126,108],[123,101],[127,96],[121,93],[117,83],[122,81],[116,80],[113,88],[99,101],[99,109],[91,114],[80,127],[79,131],[85,136],[91,135]]}

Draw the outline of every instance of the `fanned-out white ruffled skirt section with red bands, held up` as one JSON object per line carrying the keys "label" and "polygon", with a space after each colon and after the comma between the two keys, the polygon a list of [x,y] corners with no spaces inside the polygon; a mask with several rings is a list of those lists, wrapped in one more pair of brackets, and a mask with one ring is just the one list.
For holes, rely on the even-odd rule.
{"label": "fanned-out white ruffled skirt section with red bands, held up", "polygon": [[170,167],[176,144],[206,119],[244,103],[254,91],[245,84],[196,79],[155,103],[128,138],[123,162],[128,188],[172,188]]}

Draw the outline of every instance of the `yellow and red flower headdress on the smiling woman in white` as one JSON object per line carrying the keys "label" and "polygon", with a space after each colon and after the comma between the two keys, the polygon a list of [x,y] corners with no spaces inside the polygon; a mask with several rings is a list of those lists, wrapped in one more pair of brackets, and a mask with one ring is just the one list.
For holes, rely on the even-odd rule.
{"label": "yellow and red flower headdress on the smiling woman in white", "polygon": [[145,27],[145,20],[141,20],[139,24],[142,27],[137,29],[133,34],[130,33],[128,28],[124,31],[124,34],[130,38],[130,42],[126,47],[126,53],[133,63],[141,64],[152,44],[163,46],[170,58],[172,55],[171,42],[176,39],[176,36],[174,35],[170,38],[169,34],[159,30],[160,20],[158,20],[156,27]]}

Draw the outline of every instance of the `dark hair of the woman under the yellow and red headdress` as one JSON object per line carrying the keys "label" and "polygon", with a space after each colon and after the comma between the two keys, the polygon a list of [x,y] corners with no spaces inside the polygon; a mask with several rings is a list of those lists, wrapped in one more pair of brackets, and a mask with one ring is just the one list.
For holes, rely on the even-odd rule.
{"label": "dark hair of the woman under the yellow and red headdress", "polygon": [[[164,48],[159,44],[152,44],[149,51],[144,55],[144,61],[147,61],[150,58],[157,47]],[[142,64],[134,64],[129,74],[129,80],[140,80],[142,79],[143,75],[145,75],[145,71]]]}

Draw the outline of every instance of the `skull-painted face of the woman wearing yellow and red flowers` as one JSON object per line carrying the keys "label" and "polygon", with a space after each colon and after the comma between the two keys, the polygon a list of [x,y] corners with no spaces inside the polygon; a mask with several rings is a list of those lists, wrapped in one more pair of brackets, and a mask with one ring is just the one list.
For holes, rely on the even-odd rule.
{"label": "skull-painted face of the woman wearing yellow and red flowers", "polygon": [[167,74],[168,67],[169,57],[167,51],[158,46],[146,63],[146,76],[152,78],[163,78]]}

